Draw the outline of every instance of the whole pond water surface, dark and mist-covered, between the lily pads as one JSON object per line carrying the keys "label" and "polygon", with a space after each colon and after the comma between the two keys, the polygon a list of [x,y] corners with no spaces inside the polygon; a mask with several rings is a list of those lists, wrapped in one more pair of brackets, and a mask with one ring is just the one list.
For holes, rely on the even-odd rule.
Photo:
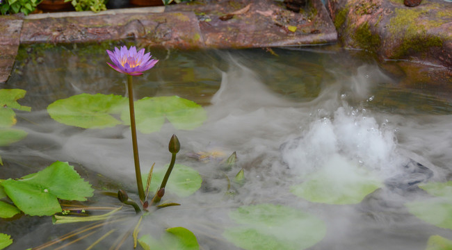
{"label": "whole pond water surface, dark and mist-covered, between the lily pads", "polygon": [[[116,192],[121,186],[134,192],[128,126],[76,128],[54,121],[46,109],[81,93],[126,96],[126,78],[106,65],[104,49],[115,45],[20,48],[13,75],[1,88],[26,90],[18,102],[32,110],[16,111],[15,128],[28,135],[0,148],[0,178],[19,178],[60,160],[74,165],[99,190],[89,206],[120,206],[102,190]],[[419,184],[452,181],[452,99],[437,88],[447,83],[410,85],[405,76],[389,73],[396,63],[378,65],[368,55],[337,47],[150,51],[159,63],[134,78],[136,99],[177,95],[202,105],[207,119],[193,130],[177,130],[167,121],[158,132],[138,134],[143,172],[152,163],[169,163],[168,140],[175,133],[181,142],[177,163],[196,169],[203,179],[189,197],[168,194],[181,206],[158,210],[142,231],[184,226],[204,250],[240,249],[243,245],[225,237],[227,228],[240,226],[232,211],[270,203],[309,213],[325,224],[324,235],[308,249],[423,250],[432,235],[452,240],[452,203],[421,210],[442,213],[435,217],[437,224],[449,216],[449,228],[415,216],[407,206],[435,199]],[[234,151],[236,165],[219,167]],[[228,183],[241,169],[245,180]],[[320,178],[312,177],[322,171]],[[343,183],[360,178],[380,184],[362,201],[334,199],[334,183],[347,196],[364,187],[344,188]],[[296,191],[312,179],[327,193]],[[133,230],[131,211],[133,222],[120,224],[118,231]],[[101,227],[97,238],[115,225]],[[278,226],[302,234],[297,225]],[[0,232],[15,240],[8,249],[26,249],[75,228],[52,225],[49,217],[23,216],[3,220]],[[97,247],[108,249],[114,240]],[[58,246],[85,249],[94,241],[87,237]],[[131,249],[128,241],[122,249]]]}

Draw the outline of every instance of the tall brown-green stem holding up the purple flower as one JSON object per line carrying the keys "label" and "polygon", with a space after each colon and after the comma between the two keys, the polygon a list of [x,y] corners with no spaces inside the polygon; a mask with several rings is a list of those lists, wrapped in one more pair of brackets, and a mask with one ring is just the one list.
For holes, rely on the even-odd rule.
{"label": "tall brown-green stem holding up the purple flower", "polygon": [[145,190],[141,180],[140,158],[138,157],[138,141],[136,140],[135,108],[134,108],[134,85],[132,76],[127,75],[127,92],[129,92],[129,110],[130,110],[130,130],[132,132],[132,147],[134,149],[136,185],[138,185],[138,196],[140,201],[145,202]]}

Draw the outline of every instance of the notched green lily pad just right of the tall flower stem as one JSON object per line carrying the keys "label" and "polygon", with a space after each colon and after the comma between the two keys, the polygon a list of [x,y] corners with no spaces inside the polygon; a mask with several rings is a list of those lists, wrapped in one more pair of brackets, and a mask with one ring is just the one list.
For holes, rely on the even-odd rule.
{"label": "notched green lily pad just right of the tall flower stem", "polygon": [[[121,114],[124,124],[130,125],[130,113],[124,109]],[[181,97],[145,97],[135,101],[136,128],[141,133],[160,131],[165,119],[176,129],[192,130],[207,119],[202,106]]]}

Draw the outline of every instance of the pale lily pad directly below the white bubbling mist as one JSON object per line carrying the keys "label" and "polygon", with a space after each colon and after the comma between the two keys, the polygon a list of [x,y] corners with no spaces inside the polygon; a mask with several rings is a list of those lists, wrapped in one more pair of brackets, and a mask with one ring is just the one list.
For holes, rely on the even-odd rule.
{"label": "pale lily pad directly below the white bubbling mist", "polygon": [[293,185],[291,192],[317,203],[356,204],[382,185],[366,169],[336,155],[318,172],[307,176],[307,181]]}

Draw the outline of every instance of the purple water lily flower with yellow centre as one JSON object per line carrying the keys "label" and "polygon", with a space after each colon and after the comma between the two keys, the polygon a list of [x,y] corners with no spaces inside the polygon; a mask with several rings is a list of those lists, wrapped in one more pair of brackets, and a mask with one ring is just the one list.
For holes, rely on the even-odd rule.
{"label": "purple water lily flower with yellow centre", "polygon": [[131,46],[130,49],[125,46],[121,47],[121,49],[115,47],[114,52],[107,49],[106,53],[108,53],[113,62],[113,64],[107,63],[110,67],[117,72],[131,76],[140,76],[159,62],[159,60],[151,59],[151,53],[145,53],[145,49],[140,49],[137,52],[135,46]]}

